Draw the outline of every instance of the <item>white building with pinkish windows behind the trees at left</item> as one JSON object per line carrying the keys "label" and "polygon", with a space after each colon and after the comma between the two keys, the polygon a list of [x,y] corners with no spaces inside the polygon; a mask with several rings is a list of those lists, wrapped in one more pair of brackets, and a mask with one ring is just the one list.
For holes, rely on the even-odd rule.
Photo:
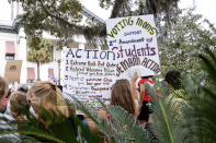
{"label": "white building with pinkish windows behind the trees at left", "polygon": [[[37,80],[37,65],[36,63],[29,62],[26,37],[23,27],[19,24],[16,15],[22,13],[22,9],[18,2],[8,3],[8,0],[1,1],[1,7],[8,8],[7,14],[0,15],[0,75],[4,76],[9,82],[27,83]],[[94,22],[104,23],[95,14],[87,9],[82,10],[86,17],[94,20]],[[48,34],[44,38],[56,40]],[[84,48],[84,38],[79,36],[76,38],[78,41],[71,48]],[[61,79],[61,50],[53,45],[52,62],[41,65],[39,79],[41,81],[57,81],[60,83]]]}

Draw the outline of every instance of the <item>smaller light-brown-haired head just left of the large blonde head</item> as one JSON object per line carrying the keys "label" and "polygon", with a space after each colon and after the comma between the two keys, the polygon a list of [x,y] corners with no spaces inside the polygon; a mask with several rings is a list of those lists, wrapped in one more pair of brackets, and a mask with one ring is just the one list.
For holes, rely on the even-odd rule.
{"label": "smaller light-brown-haired head just left of the large blonde head", "polygon": [[26,94],[23,92],[14,92],[10,96],[10,111],[14,118],[22,117],[22,110],[25,108],[30,110],[30,105],[27,103]]}

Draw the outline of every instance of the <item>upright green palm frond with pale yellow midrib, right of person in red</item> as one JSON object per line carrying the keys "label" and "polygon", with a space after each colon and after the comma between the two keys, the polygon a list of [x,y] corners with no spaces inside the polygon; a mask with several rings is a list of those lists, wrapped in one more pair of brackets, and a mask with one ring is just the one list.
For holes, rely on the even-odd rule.
{"label": "upright green palm frond with pale yellow midrib, right of person in red", "polygon": [[[157,91],[160,88],[160,91]],[[183,110],[189,108],[186,102],[181,98],[182,92],[169,95],[168,91],[161,84],[156,84],[154,88],[148,87],[152,95],[154,110],[154,130],[156,131],[159,142],[178,143],[189,142],[189,133],[183,128]],[[160,94],[162,98],[158,98]]]}

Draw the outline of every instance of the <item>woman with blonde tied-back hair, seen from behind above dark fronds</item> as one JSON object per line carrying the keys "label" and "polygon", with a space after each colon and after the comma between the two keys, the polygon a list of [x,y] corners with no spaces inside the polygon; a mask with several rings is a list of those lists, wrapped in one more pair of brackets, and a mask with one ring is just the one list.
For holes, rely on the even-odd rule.
{"label": "woman with blonde tied-back hair, seen from behind above dark fronds", "polygon": [[[27,102],[32,106],[38,119],[41,130],[50,132],[54,127],[62,124],[61,133],[77,135],[75,120],[60,90],[52,82],[37,82],[27,91]],[[66,126],[67,124],[67,126]],[[34,124],[33,124],[34,126]],[[37,127],[36,127],[37,128]],[[67,128],[69,130],[67,130]],[[21,128],[22,129],[22,128]],[[66,132],[69,131],[69,132]],[[32,136],[32,135],[31,135]],[[41,142],[50,142],[47,139],[38,139]]]}

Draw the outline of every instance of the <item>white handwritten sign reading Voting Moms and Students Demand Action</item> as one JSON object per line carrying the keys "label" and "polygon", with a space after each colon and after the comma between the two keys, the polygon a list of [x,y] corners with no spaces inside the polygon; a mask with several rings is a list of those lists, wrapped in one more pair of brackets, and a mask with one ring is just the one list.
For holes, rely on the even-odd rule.
{"label": "white handwritten sign reading Voting Moms and Students Demand Action", "polygon": [[160,72],[154,15],[110,19],[106,32],[110,50],[117,52],[118,79]]}

